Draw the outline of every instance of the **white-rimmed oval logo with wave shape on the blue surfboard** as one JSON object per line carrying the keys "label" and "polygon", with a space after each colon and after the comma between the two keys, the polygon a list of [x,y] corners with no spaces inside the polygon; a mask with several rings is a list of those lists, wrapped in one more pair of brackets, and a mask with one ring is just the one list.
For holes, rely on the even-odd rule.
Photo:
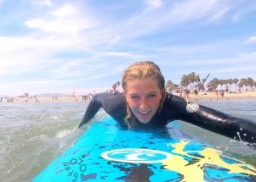
{"label": "white-rimmed oval logo with wave shape on the blue surfboard", "polygon": [[144,148],[123,148],[103,152],[101,157],[122,163],[162,163],[170,159],[171,154]]}

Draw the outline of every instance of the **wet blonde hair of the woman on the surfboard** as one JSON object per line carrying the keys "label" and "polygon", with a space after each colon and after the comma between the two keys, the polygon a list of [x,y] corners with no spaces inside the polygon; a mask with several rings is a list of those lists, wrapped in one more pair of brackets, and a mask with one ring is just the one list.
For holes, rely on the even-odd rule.
{"label": "wet blonde hair of the woman on the surfboard", "polygon": [[[154,79],[157,81],[157,85],[160,90],[162,90],[162,99],[160,101],[159,109],[162,108],[162,102],[165,97],[165,89],[164,89],[164,77],[162,76],[162,72],[156,63],[151,61],[141,61],[136,62],[128,66],[127,69],[124,70],[122,74],[122,89],[123,91],[127,91],[127,82],[128,80],[143,80],[143,79]],[[130,108],[127,103],[127,117],[130,118],[132,115]]]}

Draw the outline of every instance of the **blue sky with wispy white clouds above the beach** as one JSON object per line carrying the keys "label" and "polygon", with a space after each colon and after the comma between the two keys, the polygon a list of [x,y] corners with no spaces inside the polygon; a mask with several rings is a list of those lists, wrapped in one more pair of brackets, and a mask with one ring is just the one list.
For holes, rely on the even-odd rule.
{"label": "blue sky with wispy white clouds above the beach", "polygon": [[0,0],[0,95],[106,91],[141,60],[256,80],[255,19],[255,0]]}

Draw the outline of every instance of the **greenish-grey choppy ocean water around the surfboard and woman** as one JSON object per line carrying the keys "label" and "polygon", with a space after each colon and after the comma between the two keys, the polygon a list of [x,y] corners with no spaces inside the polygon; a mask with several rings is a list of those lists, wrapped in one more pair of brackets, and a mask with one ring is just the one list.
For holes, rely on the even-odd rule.
{"label": "greenish-grey choppy ocean water around the surfboard and woman", "polygon": [[[256,120],[256,100],[253,99],[199,103],[236,117]],[[90,123],[77,129],[87,106],[88,102],[0,103],[0,179],[31,181],[87,130]],[[104,115],[100,110],[96,120]],[[202,142],[256,167],[256,149],[194,125],[179,123]]]}

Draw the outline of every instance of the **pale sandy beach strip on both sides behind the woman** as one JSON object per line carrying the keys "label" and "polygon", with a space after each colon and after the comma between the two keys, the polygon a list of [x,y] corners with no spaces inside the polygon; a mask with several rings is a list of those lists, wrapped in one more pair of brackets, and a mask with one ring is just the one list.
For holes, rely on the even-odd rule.
{"label": "pale sandy beach strip on both sides behind the woman", "polygon": [[[179,93],[174,93],[176,96],[180,96]],[[203,93],[200,92],[198,95],[189,94],[185,97],[187,101],[241,101],[248,99],[256,99],[256,91],[244,91],[242,93],[225,93],[224,97],[216,95],[214,92]],[[70,96],[70,97],[15,97],[9,99],[9,102],[89,102],[90,99],[84,99],[82,96]],[[3,98],[2,102],[8,102],[7,98]],[[1,102],[0,102],[1,103]]]}

